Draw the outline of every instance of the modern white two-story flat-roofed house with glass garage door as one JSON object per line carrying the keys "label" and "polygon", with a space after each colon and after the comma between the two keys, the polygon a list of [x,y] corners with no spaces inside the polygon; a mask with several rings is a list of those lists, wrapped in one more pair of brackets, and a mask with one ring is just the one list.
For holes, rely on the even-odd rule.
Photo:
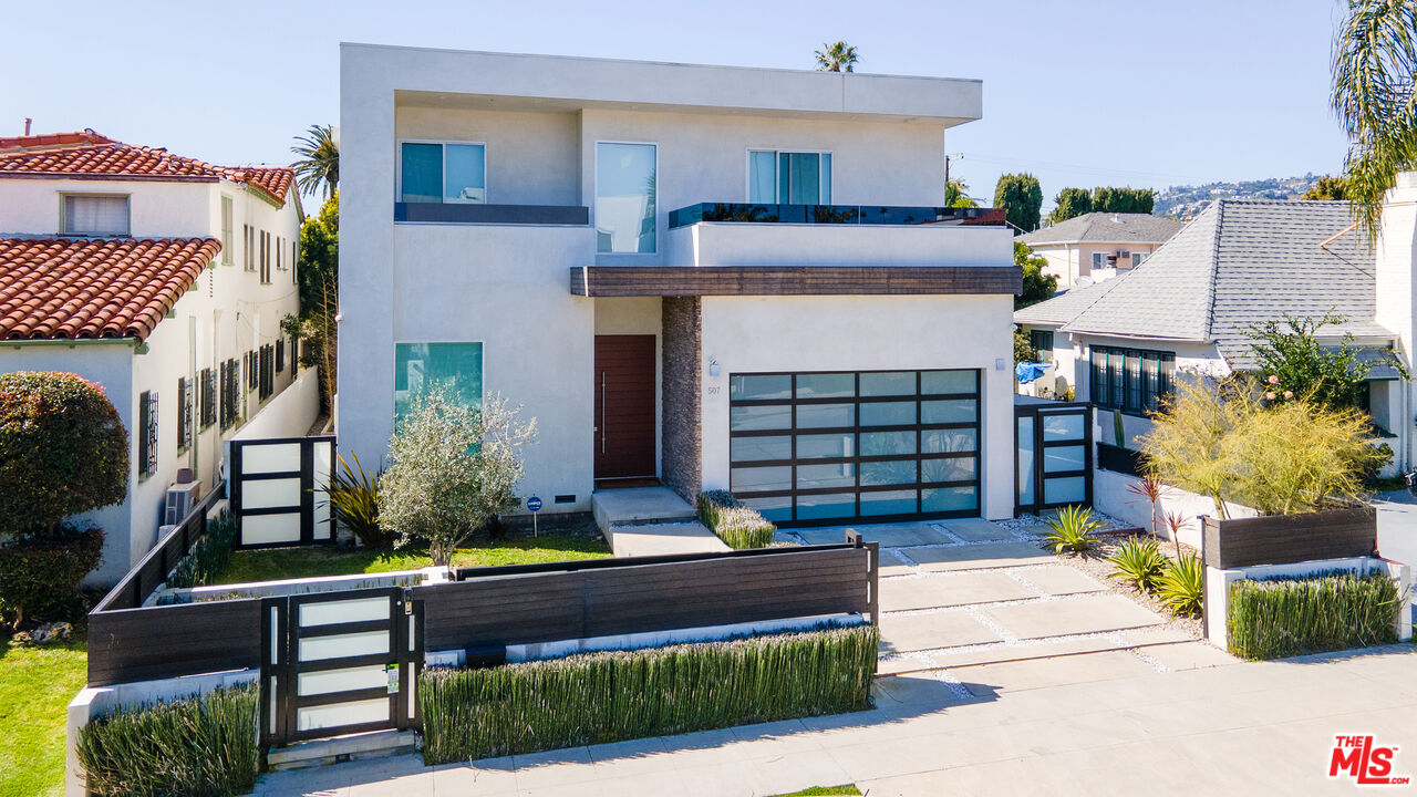
{"label": "modern white two-story flat-roofed house with glass garage door", "polygon": [[1012,234],[939,207],[978,81],[363,44],[341,69],[341,451],[378,462],[446,380],[537,418],[546,512],[659,479],[785,525],[1012,515]]}

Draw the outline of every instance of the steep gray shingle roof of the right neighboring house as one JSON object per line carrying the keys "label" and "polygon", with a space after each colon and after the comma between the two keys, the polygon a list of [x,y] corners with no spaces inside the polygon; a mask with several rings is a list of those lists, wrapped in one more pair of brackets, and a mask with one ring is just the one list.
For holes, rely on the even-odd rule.
{"label": "steep gray shingle roof of the right neighboring house", "polygon": [[1220,200],[1139,267],[1098,284],[1115,285],[1094,301],[1064,294],[1015,319],[1066,318],[1063,330],[1084,335],[1214,342],[1241,366],[1250,350],[1241,330],[1285,312],[1343,315],[1325,338],[1391,336],[1373,321],[1373,251],[1350,224],[1340,201]]}

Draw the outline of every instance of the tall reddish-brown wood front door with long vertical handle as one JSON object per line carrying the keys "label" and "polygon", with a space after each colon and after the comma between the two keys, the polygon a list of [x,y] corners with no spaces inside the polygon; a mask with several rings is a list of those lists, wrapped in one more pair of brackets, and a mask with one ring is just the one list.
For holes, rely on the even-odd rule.
{"label": "tall reddish-brown wood front door with long vertical handle", "polygon": [[655,475],[655,336],[595,336],[595,478]]}

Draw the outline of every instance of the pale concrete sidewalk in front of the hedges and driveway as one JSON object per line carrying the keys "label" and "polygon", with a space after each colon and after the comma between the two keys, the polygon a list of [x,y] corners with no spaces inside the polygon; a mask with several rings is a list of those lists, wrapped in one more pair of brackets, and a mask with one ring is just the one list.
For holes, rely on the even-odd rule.
{"label": "pale concrete sidewalk in front of the hedges and driveway", "polygon": [[[1118,675],[1108,654],[880,682],[873,710],[424,767],[417,756],[266,776],[269,797],[1350,793],[1335,735],[1417,776],[1417,648]],[[1071,662],[1058,667],[1060,662]],[[1185,669],[1180,669],[1185,668]],[[1080,679],[1081,678],[1081,679]],[[1394,793],[1404,793],[1397,788]]]}

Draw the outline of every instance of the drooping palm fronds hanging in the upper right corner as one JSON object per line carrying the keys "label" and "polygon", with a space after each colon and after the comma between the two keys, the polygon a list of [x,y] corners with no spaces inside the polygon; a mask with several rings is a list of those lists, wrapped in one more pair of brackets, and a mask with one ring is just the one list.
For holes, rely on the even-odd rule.
{"label": "drooping palm fronds hanging in the upper right corner", "polygon": [[1355,218],[1377,237],[1383,194],[1417,166],[1417,3],[1349,0],[1333,38],[1333,112],[1348,132],[1346,189]]}

